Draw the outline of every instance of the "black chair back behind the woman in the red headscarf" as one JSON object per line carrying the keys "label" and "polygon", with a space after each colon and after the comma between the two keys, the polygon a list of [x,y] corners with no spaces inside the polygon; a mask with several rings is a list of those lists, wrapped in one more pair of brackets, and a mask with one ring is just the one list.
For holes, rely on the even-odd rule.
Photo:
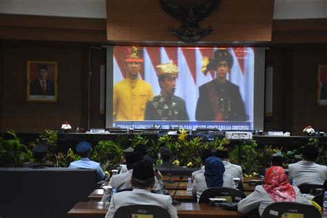
{"label": "black chair back behind the woman in the red headscarf", "polygon": [[264,209],[261,218],[281,218],[288,215],[299,215],[303,218],[321,218],[320,211],[310,204],[299,204],[295,202],[276,202]]}

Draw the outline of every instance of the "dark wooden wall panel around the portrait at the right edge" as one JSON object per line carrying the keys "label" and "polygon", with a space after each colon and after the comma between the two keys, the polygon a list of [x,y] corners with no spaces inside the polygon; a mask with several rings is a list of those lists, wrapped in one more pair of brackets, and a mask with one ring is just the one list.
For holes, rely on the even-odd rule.
{"label": "dark wooden wall panel around the portrait at the right edge", "polygon": [[317,104],[317,68],[327,63],[327,45],[296,45],[294,60],[292,132],[301,135],[308,125],[327,132],[327,106]]}

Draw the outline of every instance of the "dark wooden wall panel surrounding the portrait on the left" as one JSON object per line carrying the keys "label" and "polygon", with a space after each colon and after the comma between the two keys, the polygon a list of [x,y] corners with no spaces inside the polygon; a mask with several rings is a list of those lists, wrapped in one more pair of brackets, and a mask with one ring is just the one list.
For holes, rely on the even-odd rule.
{"label": "dark wooden wall panel surrounding the portrait on the left", "polygon": [[[58,61],[58,102],[26,101],[26,61]],[[76,128],[81,114],[81,46],[77,43],[3,43],[3,131]]]}

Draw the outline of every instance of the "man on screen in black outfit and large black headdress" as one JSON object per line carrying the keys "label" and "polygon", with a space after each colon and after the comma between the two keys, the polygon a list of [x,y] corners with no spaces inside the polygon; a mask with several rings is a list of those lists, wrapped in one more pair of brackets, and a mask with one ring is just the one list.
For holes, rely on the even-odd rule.
{"label": "man on screen in black outfit and large black headdress", "polygon": [[239,87],[226,79],[232,68],[232,56],[228,50],[216,50],[214,59],[205,63],[205,72],[216,71],[216,79],[199,87],[199,99],[195,110],[198,121],[244,121],[248,119]]}

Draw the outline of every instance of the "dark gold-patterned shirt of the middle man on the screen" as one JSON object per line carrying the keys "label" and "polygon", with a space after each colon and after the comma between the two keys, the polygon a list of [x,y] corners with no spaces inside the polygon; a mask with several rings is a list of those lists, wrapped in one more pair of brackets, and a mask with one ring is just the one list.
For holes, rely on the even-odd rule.
{"label": "dark gold-patterned shirt of the middle man on the screen", "polygon": [[161,94],[157,95],[146,103],[144,120],[188,120],[185,102],[175,95],[172,95],[170,99],[166,99]]}

